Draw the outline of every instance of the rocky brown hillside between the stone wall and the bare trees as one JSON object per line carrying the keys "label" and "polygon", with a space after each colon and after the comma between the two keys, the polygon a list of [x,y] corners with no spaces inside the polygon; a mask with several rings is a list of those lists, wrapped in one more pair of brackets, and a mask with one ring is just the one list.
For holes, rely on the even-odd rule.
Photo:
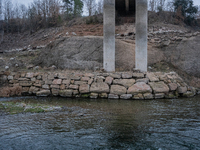
{"label": "rocky brown hillside between the stone wall and the bare trees", "polygon": [[[188,83],[200,87],[199,32],[164,24],[151,25],[148,31],[149,71],[176,71]],[[12,42],[9,37],[14,35],[7,35],[0,47],[0,71],[100,70],[103,63],[102,32],[102,24],[81,24],[42,29],[32,35],[16,36]],[[134,40],[134,24],[116,26],[116,71],[133,70]]]}

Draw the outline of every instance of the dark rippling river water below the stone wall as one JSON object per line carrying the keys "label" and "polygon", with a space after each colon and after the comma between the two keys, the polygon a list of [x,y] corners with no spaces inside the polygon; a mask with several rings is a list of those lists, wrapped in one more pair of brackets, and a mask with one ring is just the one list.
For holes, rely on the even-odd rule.
{"label": "dark rippling river water below the stone wall", "polygon": [[17,101],[63,106],[65,111],[0,116],[3,150],[200,149],[200,97],[153,101],[63,98]]}

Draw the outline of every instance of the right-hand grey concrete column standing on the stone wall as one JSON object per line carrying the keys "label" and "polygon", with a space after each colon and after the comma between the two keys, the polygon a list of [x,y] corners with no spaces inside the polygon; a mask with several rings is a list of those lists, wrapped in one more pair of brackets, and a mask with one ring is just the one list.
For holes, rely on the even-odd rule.
{"label": "right-hand grey concrete column standing on the stone wall", "polygon": [[147,71],[147,0],[136,0],[135,68]]}

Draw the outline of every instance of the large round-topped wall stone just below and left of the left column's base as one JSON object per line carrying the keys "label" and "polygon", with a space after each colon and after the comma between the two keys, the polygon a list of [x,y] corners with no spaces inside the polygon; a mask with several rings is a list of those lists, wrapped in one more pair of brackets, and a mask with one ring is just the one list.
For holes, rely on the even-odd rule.
{"label": "large round-topped wall stone just below and left of the left column's base", "polygon": [[90,92],[92,93],[109,93],[110,89],[107,83],[104,82],[93,82],[90,87]]}

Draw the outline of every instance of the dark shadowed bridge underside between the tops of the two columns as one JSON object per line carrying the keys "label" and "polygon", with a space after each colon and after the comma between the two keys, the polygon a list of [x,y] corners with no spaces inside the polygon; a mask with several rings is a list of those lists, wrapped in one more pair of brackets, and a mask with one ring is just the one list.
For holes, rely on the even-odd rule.
{"label": "dark shadowed bridge underside between the tops of the two columns", "polygon": [[135,0],[115,0],[115,9],[118,16],[135,15]]}

